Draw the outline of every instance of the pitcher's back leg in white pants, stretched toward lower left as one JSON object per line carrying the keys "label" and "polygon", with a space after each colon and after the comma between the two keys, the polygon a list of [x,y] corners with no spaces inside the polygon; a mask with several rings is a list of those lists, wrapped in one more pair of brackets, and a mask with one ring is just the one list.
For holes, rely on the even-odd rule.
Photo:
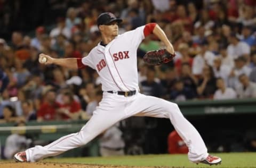
{"label": "pitcher's back leg in white pants, stretched toward lower left", "polygon": [[61,137],[46,146],[35,146],[26,150],[28,162],[37,162],[45,157],[56,156],[67,150],[82,146],[98,136],[102,131],[109,128],[119,120],[122,120],[124,113],[101,111],[93,114],[91,119],[77,133]]}

